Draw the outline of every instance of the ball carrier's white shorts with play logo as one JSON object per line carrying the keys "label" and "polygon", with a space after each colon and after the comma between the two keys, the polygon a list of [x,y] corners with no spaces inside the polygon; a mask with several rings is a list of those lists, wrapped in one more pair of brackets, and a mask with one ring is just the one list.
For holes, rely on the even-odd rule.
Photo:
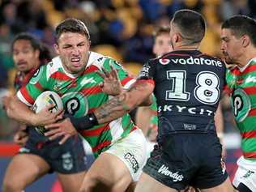
{"label": "ball carrier's white shorts with play logo", "polygon": [[117,156],[130,171],[133,181],[139,181],[143,166],[147,161],[147,144],[142,130],[137,129],[125,138],[113,143],[107,151]]}

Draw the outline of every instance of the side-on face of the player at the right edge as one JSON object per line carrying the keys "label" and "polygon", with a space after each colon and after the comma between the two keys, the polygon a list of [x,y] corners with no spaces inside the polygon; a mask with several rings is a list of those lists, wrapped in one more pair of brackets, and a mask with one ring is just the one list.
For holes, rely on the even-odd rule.
{"label": "side-on face of the player at the right edge", "polygon": [[237,60],[243,54],[242,38],[233,35],[230,29],[221,30],[221,51],[227,64],[236,64]]}

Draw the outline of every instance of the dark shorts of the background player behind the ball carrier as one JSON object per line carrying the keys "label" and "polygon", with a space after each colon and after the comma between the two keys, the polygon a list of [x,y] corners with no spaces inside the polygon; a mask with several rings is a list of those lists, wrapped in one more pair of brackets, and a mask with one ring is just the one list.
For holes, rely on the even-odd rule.
{"label": "dark shorts of the background player behind the ball carrier", "polygon": [[82,139],[79,137],[70,138],[62,145],[58,144],[58,141],[40,143],[30,136],[26,145],[19,149],[19,154],[27,153],[41,156],[50,166],[49,173],[71,174],[85,171],[87,158]]}

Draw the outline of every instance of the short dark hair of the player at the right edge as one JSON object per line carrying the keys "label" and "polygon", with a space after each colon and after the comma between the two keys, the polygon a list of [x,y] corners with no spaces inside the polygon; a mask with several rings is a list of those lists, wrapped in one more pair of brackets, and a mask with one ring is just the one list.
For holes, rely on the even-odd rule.
{"label": "short dark hair of the player at the right edge", "polygon": [[234,36],[247,35],[253,45],[256,45],[256,21],[246,15],[234,15],[222,24],[221,28],[228,28]]}

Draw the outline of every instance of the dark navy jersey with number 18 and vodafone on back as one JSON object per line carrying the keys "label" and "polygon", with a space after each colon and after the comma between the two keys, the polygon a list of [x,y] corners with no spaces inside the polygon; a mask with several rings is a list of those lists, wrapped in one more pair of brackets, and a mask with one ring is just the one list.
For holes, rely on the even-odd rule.
{"label": "dark navy jersey with number 18 and vodafone on back", "polygon": [[155,83],[159,134],[215,131],[225,65],[198,50],[178,50],[149,60],[138,79]]}

